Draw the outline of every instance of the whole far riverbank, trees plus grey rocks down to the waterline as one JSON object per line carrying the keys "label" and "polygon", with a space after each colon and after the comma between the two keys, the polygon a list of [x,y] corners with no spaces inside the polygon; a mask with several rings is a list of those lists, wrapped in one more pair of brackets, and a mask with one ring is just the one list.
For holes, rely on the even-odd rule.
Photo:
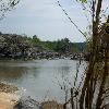
{"label": "whole far riverbank, trees plus grey rocks down to the waterline", "polygon": [[85,59],[86,49],[86,43],[71,43],[69,38],[44,41],[36,35],[0,33],[0,60]]}

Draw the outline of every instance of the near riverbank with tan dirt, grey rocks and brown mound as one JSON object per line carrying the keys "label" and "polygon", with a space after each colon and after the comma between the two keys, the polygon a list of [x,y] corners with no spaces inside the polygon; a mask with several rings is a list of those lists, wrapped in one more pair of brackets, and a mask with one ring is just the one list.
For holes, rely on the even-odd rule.
{"label": "near riverbank with tan dirt, grey rocks and brown mound", "polygon": [[0,83],[0,109],[63,109],[57,101],[36,101],[16,94],[19,88],[14,85]]}

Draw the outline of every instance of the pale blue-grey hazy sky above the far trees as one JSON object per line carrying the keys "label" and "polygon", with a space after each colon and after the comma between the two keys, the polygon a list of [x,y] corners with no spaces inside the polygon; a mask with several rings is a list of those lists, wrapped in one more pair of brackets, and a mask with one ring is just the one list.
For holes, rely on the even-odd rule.
{"label": "pale blue-grey hazy sky above the far trees", "polygon": [[[75,24],[85,32],[88,23],[80,4],[74,0],[60,0],[60,3]],[[106,0],[104,7],[107,4],[109,0]],[[57,40],[64,37],[70,38],[71,41],[85,40],[64,15],[57,0],[21,0],[16,8],[0,21],[0,31],[28,36],[37,35],[44,40]]]}

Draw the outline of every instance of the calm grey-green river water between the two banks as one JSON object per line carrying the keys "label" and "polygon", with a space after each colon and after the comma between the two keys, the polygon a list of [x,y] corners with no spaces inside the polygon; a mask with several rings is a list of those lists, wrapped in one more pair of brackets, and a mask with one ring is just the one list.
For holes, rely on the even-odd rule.
{"label": "calm grey-green river water between the two banks", "polygon": [[[73,84],[77,63],[78,61],[69,59],[0,61],[0,81],[23,87],[23,94],[34,99],[49,98],[63,101],[64,92],[60,85],[63,85],[64,78]],[[81,64],[78,81],[85,64]]]}

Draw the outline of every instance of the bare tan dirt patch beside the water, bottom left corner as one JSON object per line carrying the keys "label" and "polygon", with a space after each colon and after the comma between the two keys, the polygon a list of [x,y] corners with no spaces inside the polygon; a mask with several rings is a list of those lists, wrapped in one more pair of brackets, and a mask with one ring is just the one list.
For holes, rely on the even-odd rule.
{"label": "bare tan dirt patch beside the water, bottom left corner", "polygon": [[0,83],[0,109],[13,109],[20,100],[20,96],[14,94],[17,89],[13,85]]}

